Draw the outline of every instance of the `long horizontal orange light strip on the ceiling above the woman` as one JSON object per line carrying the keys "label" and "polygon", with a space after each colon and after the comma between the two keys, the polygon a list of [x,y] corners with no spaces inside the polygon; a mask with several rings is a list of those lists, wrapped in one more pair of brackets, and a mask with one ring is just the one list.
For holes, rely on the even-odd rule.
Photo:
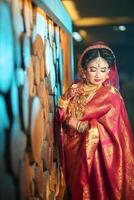
{"label": "long horizontal orange light strip on the ceiling above the woman", "polygon": [[101,26],[110,24],[133,23],[134,18],[130,17],[87,17],[74,21],[76,26]]}

